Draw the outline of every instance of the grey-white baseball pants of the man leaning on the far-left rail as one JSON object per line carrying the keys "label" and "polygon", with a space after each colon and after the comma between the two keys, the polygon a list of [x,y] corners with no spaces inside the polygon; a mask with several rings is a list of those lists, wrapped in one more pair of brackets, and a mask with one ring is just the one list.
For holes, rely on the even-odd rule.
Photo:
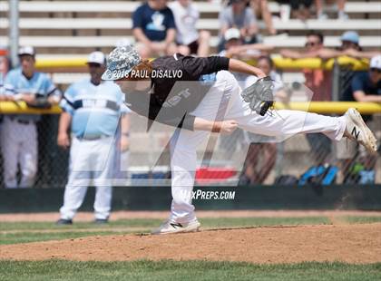
{"label": "grey-white baseball pants of the man leaning on the far-left rail", "polygon": [[[1,132],[5,188],[30,188],[37,172],[37,128],[34,123],[21,124],[5,116]],[[17,183],[17,165],[21,180]]]}

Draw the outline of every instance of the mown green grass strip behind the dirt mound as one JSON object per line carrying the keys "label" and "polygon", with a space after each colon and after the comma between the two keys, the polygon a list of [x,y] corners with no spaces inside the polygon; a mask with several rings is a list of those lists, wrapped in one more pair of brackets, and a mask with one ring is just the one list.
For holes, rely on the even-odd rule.
{"label": "mown green grass strip behind the dirt mound", "polygon": [[[347,223],[381,222],[381,217],[338,217],[337,219]],[[161,222],[161,219],[151,218],[121,219],[111,221],[106,225],[96,225],[90,222],[74,222],[73,226],[57,226],[54,222],[2,222],[0,224],[0,245],[95,235],[150,232],[152,228],[157,228]],[[330,219],[326,217],[201,218],[200,222],[202,228],[248,228],[331,223]]]}

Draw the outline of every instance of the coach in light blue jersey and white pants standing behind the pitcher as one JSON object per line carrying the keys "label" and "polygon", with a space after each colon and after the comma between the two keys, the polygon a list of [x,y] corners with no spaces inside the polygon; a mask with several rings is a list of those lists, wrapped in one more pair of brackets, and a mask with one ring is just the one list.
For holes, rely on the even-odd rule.
{"label": "coach in light blue jersey and white pants standing behind the pitcher", "polygon": [[[124,95],[114,82],[102,82],[105,56],[93,52],[88,59],[91,78],[73,83],[64,93],[61,107],[58,145],[69,146],[68,129],[72,125],[70,175],[64,191],[64,206],[57,224],[72,224],[83,203],[87,187],[96,187],[95,222],[106,223],[112,201],[112,172],[115,154],[115,132],[120,117],[127,108]],[[124,124],[121,121],[121,124]],[[121,142],[128,131],[122,127]],[[126,149],[126,147],[124,147]]]}

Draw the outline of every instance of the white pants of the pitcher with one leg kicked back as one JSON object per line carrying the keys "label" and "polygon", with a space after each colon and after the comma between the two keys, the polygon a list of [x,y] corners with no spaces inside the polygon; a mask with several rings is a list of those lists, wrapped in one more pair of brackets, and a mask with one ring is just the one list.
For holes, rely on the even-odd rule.
{"label": "white pants of the pitcher with one leg kicked back", "polygon": [[[240,97],[234,76],[217,73],[217,81],[191,114],[210,121],[216,116],[235,120],[245,131],[286,139],[297,133],[322,132],[331,140],[340,140],[346,128],[344,117],[329,117],[305,111],[278,111],[273,116],[260,116]],[[229,102],[226,102],[229,100]],[[222,106],[220,105],[222,102]],[[225,103],[226,105],[223,105]],[[280,116],[278,116],[280,115]],[[196,149],[210,136],[209,131],[177,130],[171,139],[171,217],[180,223],[195,219],[190,194],[196,170]]]}

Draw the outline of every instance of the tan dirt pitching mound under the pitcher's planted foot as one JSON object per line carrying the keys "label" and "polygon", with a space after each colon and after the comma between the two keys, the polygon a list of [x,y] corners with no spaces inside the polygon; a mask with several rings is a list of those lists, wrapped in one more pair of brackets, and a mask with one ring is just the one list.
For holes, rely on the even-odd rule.
{"label": "tan dirt pitching mound under the pitcher's planted foot", "polygon": [[220,229],[165,236],[85,237],[1,246],[0,258],[375,263],[381,262],[381,224]]}

